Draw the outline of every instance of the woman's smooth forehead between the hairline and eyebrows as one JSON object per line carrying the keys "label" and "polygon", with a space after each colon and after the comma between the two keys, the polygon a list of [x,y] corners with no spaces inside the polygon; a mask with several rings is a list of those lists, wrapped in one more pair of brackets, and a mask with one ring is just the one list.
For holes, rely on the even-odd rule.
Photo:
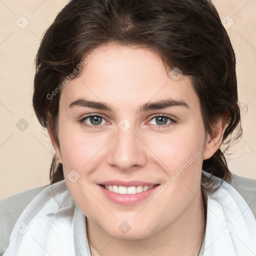
{"label": "woman's smooth forehead between the hairline and eyebrows", "polygon": [[96,54],[85,54],[88,61],[81,75],[62,89],[61,102],[70,103],[84,96],[107,103],[114,100],[123,105],[137,105],[168,96],[198,103],[190,77],[173,79],[152,49],[111,43],[96,50]]}

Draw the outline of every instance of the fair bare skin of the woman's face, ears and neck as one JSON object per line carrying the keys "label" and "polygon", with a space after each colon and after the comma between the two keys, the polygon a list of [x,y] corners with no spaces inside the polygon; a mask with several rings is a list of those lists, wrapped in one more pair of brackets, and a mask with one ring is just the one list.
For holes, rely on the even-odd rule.
{"label": "fair bare skin of the woman's face, ears and neck", "polygon": [[[82,74],[61,90],[59,148],[48,123],[66,186],[87,217],[91,255],[197,255],[204,223],[201,164],[219,147],[224,125],[219,122],[213,136],[205,132],[190,78],[172,79],[149,48],[108,44],[97,49]],[[85,98],[104,102],[112,111],[81,104],[69,107]],[[138,111],[148,101],[167,98],[185,104]],[[96,119],[100,124],[85,119],[88,114],[102,115]],[[162,124],[157,114],[172,119]],[[123,118],[131,124],[125,131],[118,126]],[[161,187],[196,152],[198,157],[153,202],[147,196],[123,205],[102,192],[100,184],[113,179]],[[74,183],[67,178],[73,169],[80,175]],[[123,221],[130,226],[126,233],[118,228]]]}

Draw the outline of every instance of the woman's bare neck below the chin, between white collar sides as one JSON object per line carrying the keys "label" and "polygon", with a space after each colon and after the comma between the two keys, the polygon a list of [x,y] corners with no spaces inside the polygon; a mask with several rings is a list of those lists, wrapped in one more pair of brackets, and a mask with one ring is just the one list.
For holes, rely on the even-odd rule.
{"label": "woman's bare neck below the chin, between white collar sides", "polygon": [[119,239],[107,234],[87,219],[91,255],[189,255],[196,256],[204,233],[204,206],[201,191],[168,226],[143,239]]}

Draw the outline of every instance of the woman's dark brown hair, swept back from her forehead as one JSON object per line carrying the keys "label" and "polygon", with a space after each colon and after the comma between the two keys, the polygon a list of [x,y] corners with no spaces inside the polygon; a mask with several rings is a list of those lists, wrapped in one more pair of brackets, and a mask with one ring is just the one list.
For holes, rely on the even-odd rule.
{"label": "woman's dark brown hair, swept back from her forehead", "polygon": [[[209,0],[71,0],[46,30],[37,56],[33,107],[43,127],[51,125],[56,142],[61,91],[52,92],[73,72],[84,54],[116,42],[149,47],[165,67],[178,67],[192,78],[207,132],[229,116],[223,142],[240,122],[235,54],[219,15]],[[77,77],[79,72],[74,75]],[[73,79],[72,78],[72,79]],[[60,86],[61,87],[61,86]],[[60,88],[59,87],[59,88]],[[51,96],[49,96],[51,95]],[[241,135],[238,132],[237,136]],[[202,169],[223,180],[228,170],[218,149]],[[51,184],[62,180],[62,164],[54,156]]]}

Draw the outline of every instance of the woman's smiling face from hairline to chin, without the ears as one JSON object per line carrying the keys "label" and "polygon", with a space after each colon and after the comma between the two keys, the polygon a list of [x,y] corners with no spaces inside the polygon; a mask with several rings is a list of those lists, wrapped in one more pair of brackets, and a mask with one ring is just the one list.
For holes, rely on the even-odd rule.
{"label": "woman's smiling face from hairline to chin, without the ears", "polygon": [[112,236],[146,237],[201,198],[202,160],[211,152],[199,100],[190,78],[168,76],[148,48],[97,50],[61,91],[56,151],[91,223]]}

